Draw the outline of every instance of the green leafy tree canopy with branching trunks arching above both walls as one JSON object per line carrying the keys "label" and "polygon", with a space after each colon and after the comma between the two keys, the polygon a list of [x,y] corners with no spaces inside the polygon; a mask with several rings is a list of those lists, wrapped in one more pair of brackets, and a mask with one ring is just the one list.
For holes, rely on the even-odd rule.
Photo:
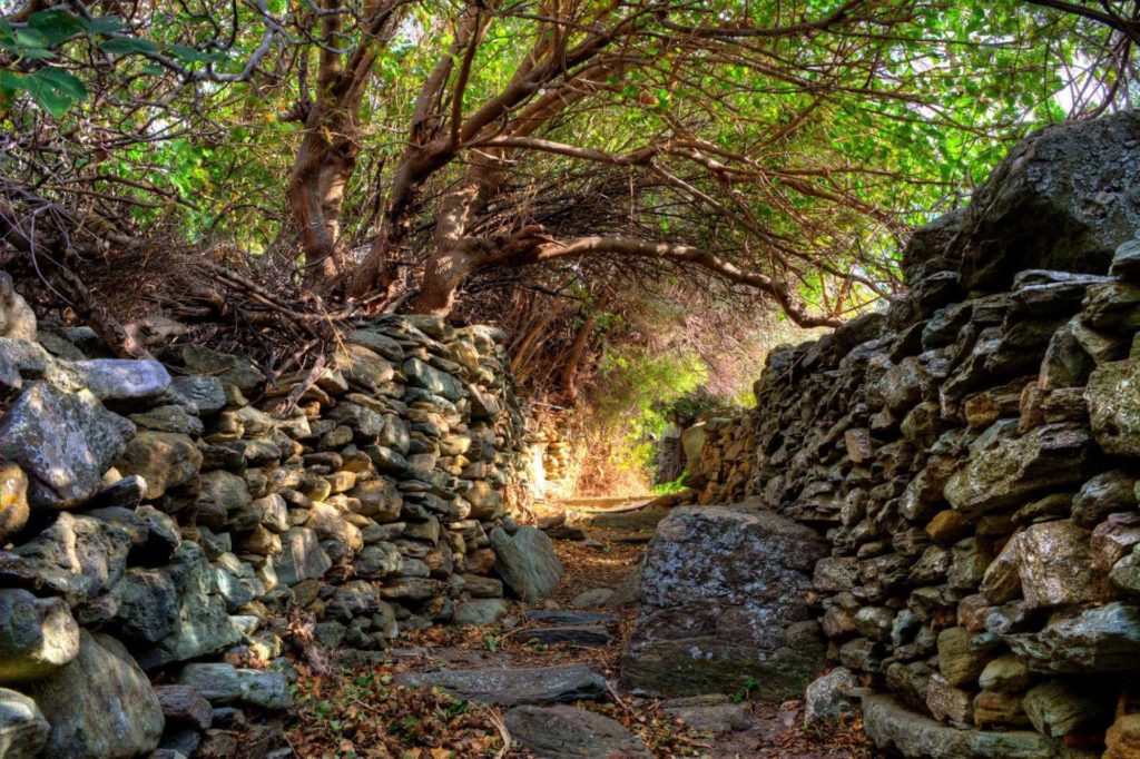
{"label": "green leafy tree canopy with branching trunks arching above both walls", "polygon": [[261,326],[614,272],[833,325],[1003,139],[1127,103],[1130,8],[0,2],[0,234],[73,304],[92,268],[209,252],[266,292],[181,312]]}

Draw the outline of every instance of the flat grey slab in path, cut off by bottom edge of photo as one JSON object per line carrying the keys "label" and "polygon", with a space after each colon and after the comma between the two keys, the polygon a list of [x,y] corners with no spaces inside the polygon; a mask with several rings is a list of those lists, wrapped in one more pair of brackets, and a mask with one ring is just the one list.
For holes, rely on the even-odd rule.
{"label": "flat grey slab in path, cut off by bottom edge of photo", "polygon": [[573,707],[515,707],[506,712],[511,736],[543,759],[634,759],[653,754],[619,723]]}

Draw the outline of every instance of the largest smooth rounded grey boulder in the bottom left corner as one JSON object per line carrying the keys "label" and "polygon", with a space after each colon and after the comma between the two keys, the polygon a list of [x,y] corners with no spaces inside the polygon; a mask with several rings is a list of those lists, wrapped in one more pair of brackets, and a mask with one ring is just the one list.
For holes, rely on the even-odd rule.
{"label": "largest smooth rounded grey boulder in the bottom left corner", "polygon": [[28,692],[51,724],[44,756],[127,759],[158,745],[165,719],[150,682],[121,643],[80,634],[79,656]]}

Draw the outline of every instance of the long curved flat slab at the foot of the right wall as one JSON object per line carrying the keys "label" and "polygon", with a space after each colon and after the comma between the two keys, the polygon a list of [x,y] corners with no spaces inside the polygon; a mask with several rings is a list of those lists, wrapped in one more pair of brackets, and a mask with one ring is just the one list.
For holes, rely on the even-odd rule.
{"label": "long curved flat slab at the foot of the right wall", "polygon": [[863,726],[880,749],[914,759],[1050,759],[1061,745],[1033,731],[962,731],[913,712],[887,695],[863,696]]}

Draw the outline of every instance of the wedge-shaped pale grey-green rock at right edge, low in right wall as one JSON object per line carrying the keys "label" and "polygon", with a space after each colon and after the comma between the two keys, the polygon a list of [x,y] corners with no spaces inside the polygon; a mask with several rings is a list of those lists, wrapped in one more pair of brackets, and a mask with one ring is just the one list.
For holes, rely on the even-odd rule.
{"label": "wedge-shaped pale grey-green rock at right edge, low in right wall", "polygon": [[1036,672],[1130,671],[1140,655],[1140,610],[1113,602],[1003,640]]}

